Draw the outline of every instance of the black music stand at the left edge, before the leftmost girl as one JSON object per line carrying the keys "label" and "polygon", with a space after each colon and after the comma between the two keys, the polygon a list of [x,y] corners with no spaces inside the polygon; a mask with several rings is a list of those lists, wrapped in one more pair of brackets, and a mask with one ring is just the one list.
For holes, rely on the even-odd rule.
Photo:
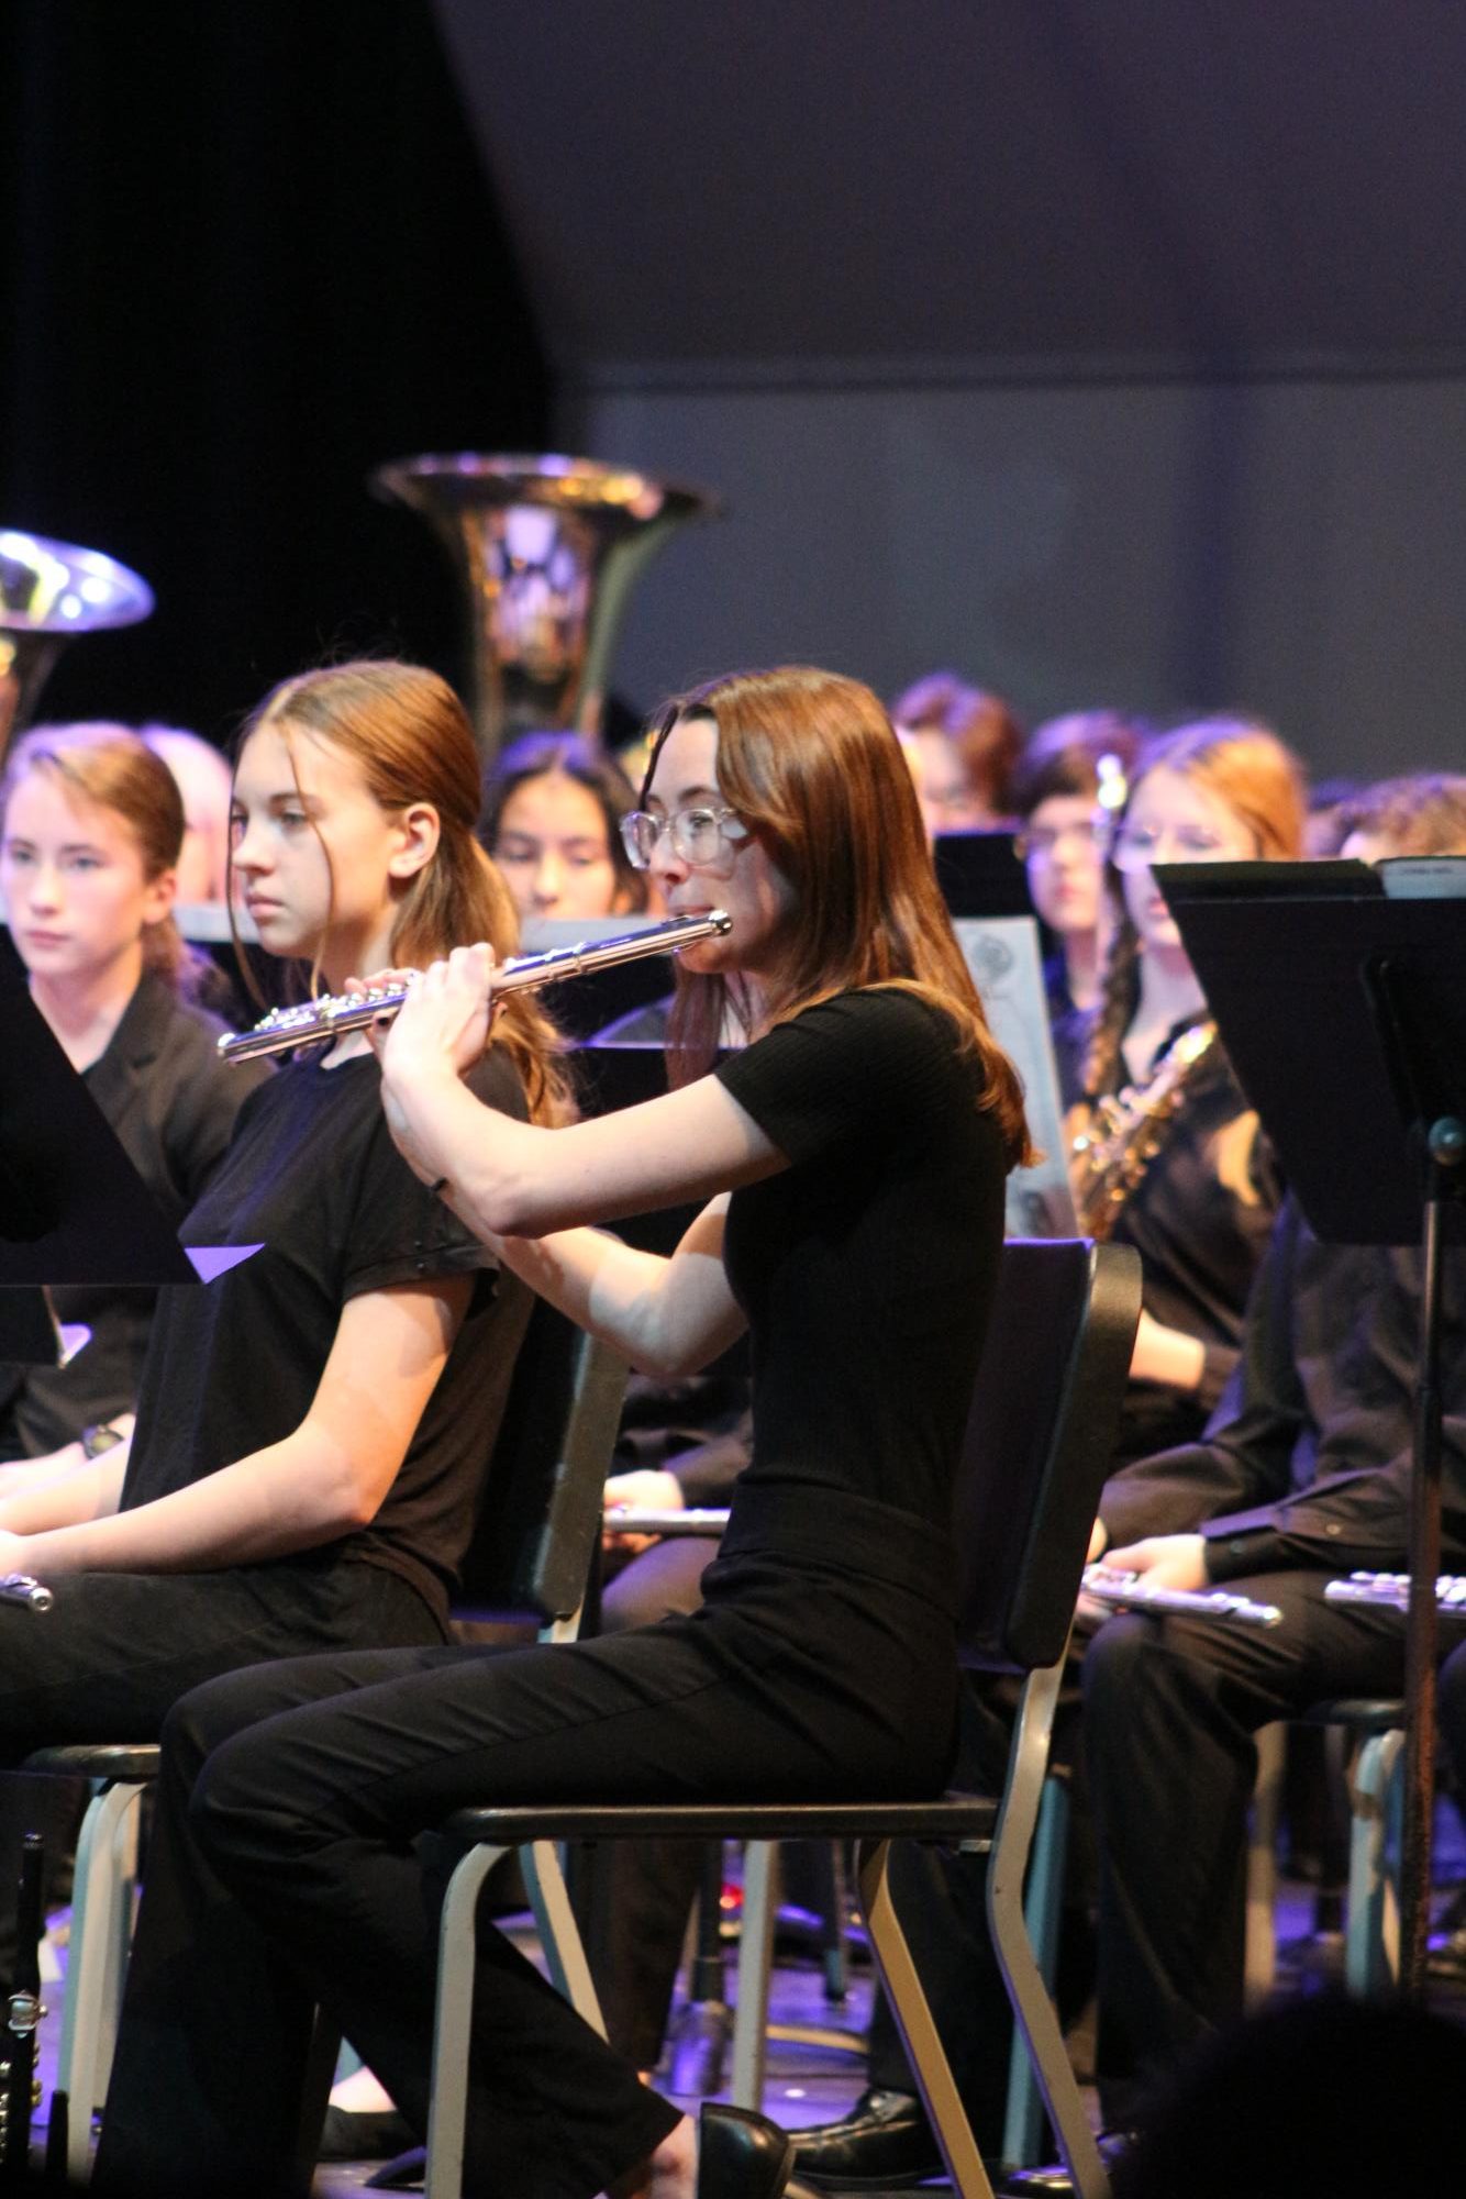
{"label": "black music stand at the left edge, before the leftmost girl", "polygon": [[7,983],[0,985],[0,1286],[24,1286],[31,1304],[22,1300],[4,1333],[31,1330],[37,1339],[37,1286],[70,1282],[198,1282],[198,1273],[31,994]]}

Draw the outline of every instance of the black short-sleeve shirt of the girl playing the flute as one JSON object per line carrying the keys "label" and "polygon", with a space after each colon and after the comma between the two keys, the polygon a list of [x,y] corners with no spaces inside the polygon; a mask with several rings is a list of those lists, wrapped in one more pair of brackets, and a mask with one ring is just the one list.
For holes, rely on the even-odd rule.
{"label": "black short-sleeve shirt of the girl playing the flute", "polygon": [[1007,1176],[976,1053],[928,1001],[868,987],[714,1075],[791,1163],[728,1209],[754,1352],[745,1480],[818,1482],[947,1533]]}

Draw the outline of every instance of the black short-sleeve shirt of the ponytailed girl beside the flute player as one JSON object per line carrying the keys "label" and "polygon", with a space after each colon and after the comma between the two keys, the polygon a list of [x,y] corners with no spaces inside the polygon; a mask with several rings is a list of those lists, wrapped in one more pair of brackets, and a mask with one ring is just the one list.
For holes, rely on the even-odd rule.
{"label": "black short-sleeve shirt of the ponytailed girl beside the flute player", "polygon": [[[488,1106],[525,1117],[503,1053],[490,1051],[466,1082]],[[495,1256],[398,1154],[376,1060],[336,1069],[297,1060],[262,1086],[180,1236],[193,1247],[262,1249],[215,1282],[160,1293],[123,1509],[299,1427],[349,1297],[486,1271],[376,1520],[297,1559],[387,1566],[442,1614],[530,1293],[497,1273]]]}

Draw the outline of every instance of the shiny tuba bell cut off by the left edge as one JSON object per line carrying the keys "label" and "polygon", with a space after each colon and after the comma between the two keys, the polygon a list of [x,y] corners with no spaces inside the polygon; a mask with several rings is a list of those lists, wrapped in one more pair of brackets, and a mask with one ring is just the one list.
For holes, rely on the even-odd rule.
{"label": "shiny tuba bell cut off by the left edge", "polygon": [[147,581],[101,550],[0,530],[0,761],[73,636],[149,614]]}

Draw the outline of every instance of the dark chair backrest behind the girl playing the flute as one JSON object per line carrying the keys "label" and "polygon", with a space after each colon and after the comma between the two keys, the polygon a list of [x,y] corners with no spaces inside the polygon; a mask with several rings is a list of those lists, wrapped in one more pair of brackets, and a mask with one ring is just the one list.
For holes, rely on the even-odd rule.
{"label": "dark chair backrest behind the girl playing the flute", "polygon": [[956,1484],[965,1662],[1062,1656],[1139,1317],[1132,1247],[1002,1247]]}

